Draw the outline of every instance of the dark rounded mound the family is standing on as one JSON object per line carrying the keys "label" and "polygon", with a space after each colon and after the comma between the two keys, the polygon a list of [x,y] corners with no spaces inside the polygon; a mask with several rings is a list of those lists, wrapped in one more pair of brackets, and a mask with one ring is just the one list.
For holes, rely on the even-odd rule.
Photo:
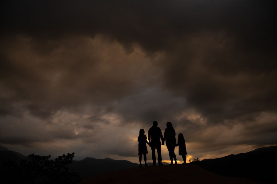
{"label": "dark rounded mound the family is standing on", "polygon": [[89,183],[224,183],[224,184],[258,184],[254,180],[233,178],[214,174],[193,164],[166,166],[134,167],[120,171],[98,174],[83,179],[80,184]]}

